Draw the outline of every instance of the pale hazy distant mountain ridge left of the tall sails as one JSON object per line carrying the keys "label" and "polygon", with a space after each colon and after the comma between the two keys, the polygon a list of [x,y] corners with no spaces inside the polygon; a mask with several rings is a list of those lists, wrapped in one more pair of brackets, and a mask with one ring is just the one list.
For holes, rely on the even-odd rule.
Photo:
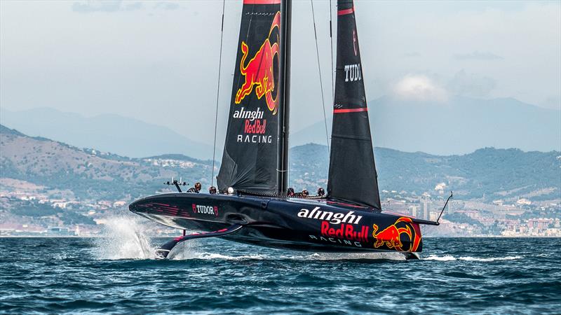
{"label": "pale hazy distant mountain ridge left of the tall sails", "polygon": [[114,114],[85,117],[43,107],[27,111],[1,109],[0,118],[3,125],[25,134],[132,158],[166,153],[212,157],[212,146],[189,139],[168,127]]}

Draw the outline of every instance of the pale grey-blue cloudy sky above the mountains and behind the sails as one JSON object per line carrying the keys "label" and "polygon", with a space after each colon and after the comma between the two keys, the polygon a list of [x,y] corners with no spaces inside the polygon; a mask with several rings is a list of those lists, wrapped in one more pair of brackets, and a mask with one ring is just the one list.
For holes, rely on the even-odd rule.
{"label": "pale grey-blue cloudy sky above the mountains and behind the sails", "polygon": [[[561,109],[561,1],[355,2],[368,99],[513,97]],[[0,1],[0,106],[115,113],[210,142],[218,91],[223,139],[241,1],[225,1],[218,73],[222,3]],[[330,2],[313,1],[321,72],[311,3],[293,3],[295,131],[323,120],[319,73],[331,104]]]}

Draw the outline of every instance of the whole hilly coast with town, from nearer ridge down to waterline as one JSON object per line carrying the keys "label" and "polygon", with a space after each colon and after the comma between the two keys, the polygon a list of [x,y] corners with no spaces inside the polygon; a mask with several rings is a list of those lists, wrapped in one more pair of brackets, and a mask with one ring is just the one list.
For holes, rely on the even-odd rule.
{"label": "whole hilly coast with town, from nearer ridge down to waterline", "polygon": [[[201,182],[206,192],[219,169],[219,162],[186,155],[128,158],[76,148],[3,125],[0,152],[0,237],[100,237],[123,217],[146,235],[177,235],[130,213],[128,204],[174,191],[162,185],[172,177]],[[305,144],[290,152],[292,187],[311,195],[326,188],[327,147]],[[482,148],[441,156],[375,148],[374,154],[383,211],[435,221],[454,190],[440,225],[422,228],[426,237],[561,237],[560,152]]]}

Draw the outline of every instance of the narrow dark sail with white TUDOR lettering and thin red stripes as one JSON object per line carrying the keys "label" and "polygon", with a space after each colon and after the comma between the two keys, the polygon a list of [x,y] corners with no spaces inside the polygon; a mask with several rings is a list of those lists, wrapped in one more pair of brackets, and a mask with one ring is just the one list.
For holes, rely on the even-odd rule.
{"label": "narrow dark sail with white TUDOR lettering and thin red stripes", "polygon": [[381,209],[352,0],[337,1],[337,71],[327,195]]}

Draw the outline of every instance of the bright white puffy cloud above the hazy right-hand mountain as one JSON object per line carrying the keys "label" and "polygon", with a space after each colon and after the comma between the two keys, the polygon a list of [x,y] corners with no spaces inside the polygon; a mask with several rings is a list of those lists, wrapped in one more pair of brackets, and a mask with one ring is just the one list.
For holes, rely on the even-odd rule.
{"label": "bright white puffy cloud above the hazy right-hand mountain", "polygon": [[428,76],[408,74],[393,87],[393,94],[403,99],[446,102],[447,91]]}

